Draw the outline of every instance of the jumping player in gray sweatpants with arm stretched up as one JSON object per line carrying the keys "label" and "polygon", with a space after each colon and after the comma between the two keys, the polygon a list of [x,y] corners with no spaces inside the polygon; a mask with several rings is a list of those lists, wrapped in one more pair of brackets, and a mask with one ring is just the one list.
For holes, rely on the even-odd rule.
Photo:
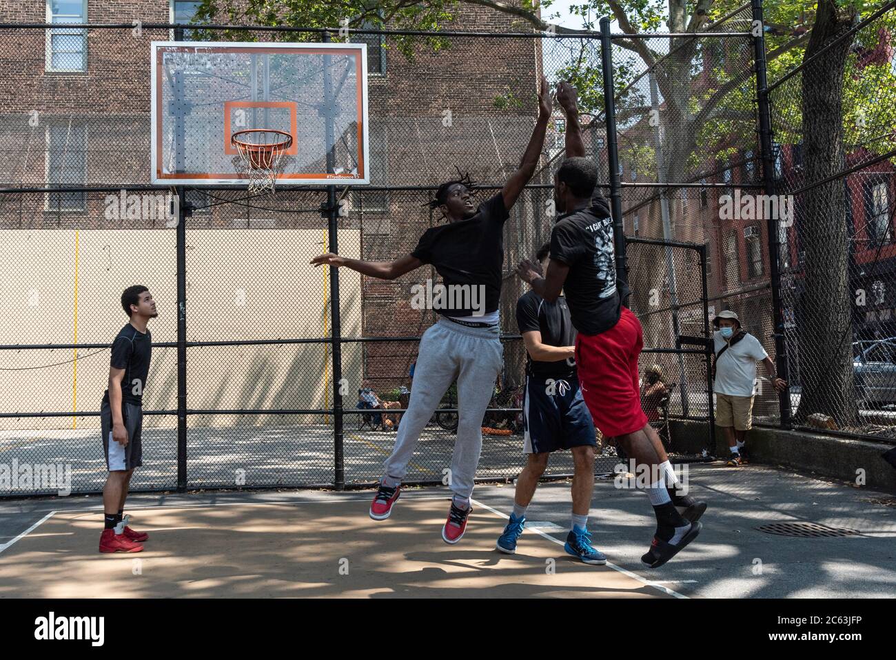
{"label": "jumping player in gray sweatpants with arm stretched up", "polygon": [[[442,275],[444,290],[439,295],[435,287],[431,290],[432,307],[440,318],[420,341],[408,412],[401,418],[392,456],[386,460],[379,491],[370,507],[370,517],[384,520],[391,515],[420,432],[456,379],[460,419],[449,482],[454,497],[442,527],[445,543],[461,540],[470,515],[473,476],[482,448],[482,420],[494,394],[495,379],[504,356],[498,321],[504,221],[535,173],[551,116],[551,96],[547,80],[542,76],[535,129],[520,168],[513,172],[504,188],[476,208],[469,177],[442,184],[431,206],[444,213],[447,223],[426,230],[409,256],[391,262],[370,262],[328,253],[311,260],[315,266],[345,266],[383,280],[394,280],[424,264],[435,266]],[[417,302],[424,300],[421,297]]]}

